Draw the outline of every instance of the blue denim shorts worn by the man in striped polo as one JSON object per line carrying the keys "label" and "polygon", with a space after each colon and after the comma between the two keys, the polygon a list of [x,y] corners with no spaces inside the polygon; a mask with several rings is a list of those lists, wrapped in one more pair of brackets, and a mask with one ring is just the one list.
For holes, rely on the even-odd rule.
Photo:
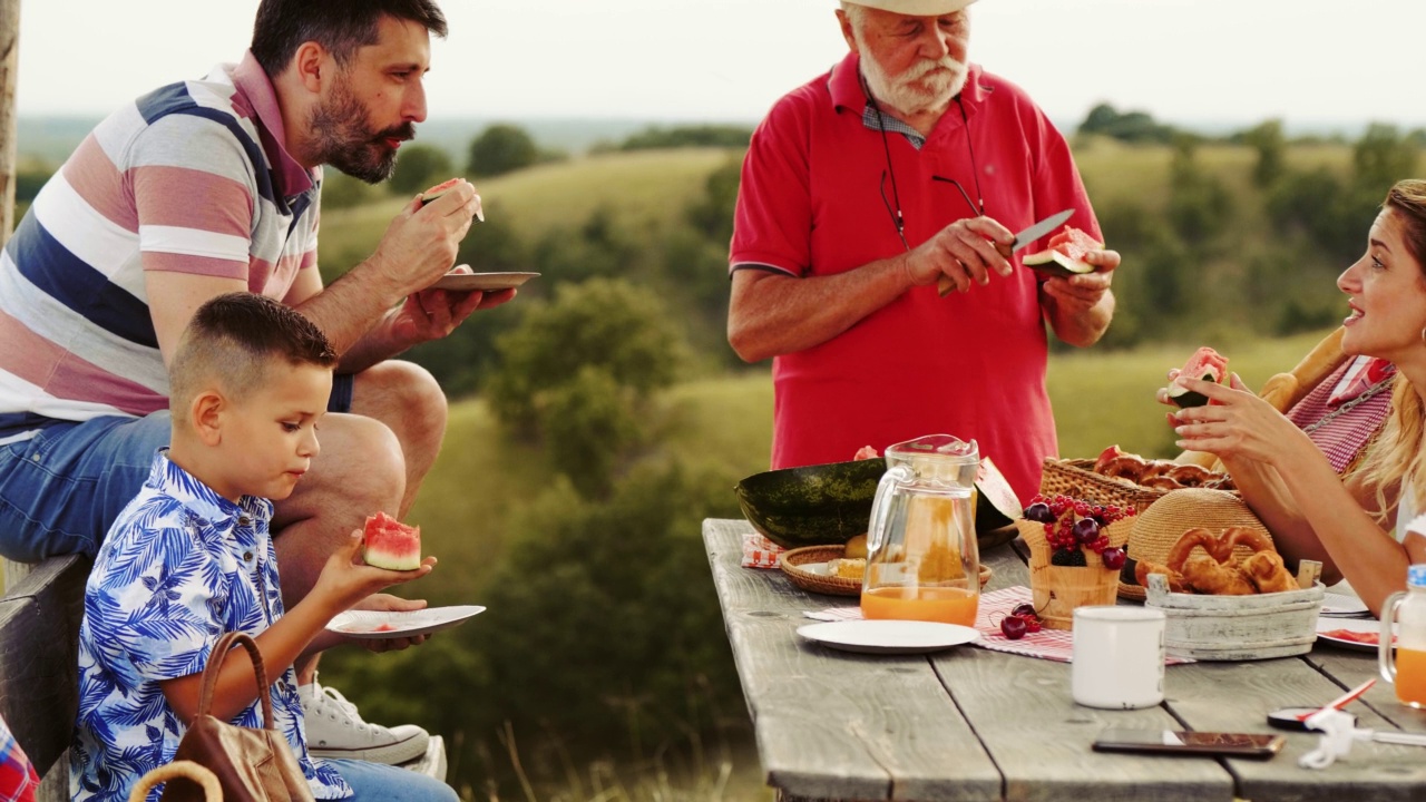
{"label": "blue denim shorts worn by the man in striped polo", "polygon": [[[328,410],[345,412],[351,398],[352,377],[334,377]],[[168,411],[51,421],[30,440],[0,445],[0,557],[93,558],[168,445],[171,421]]]}

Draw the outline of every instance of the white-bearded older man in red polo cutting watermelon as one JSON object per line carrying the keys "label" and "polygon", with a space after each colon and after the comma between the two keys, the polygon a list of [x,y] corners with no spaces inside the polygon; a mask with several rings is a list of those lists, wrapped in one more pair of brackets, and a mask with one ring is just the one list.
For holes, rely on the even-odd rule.
{"label": "white-bearded older man in red polo cutting watermelon", "polygon": [[[774,468],[948,432],[975,438],[1030,498],[1057,454],[1044,323],[1098,341],[1119,255],[1045,280],[997,248],[1064,208],[1102,235],[1064,137],[1020,87],[967,63],[971,1],[841,3],[851,51],[753,134],[729,342],[773,357]],[[958,291],[938,295],[941,277]]]}

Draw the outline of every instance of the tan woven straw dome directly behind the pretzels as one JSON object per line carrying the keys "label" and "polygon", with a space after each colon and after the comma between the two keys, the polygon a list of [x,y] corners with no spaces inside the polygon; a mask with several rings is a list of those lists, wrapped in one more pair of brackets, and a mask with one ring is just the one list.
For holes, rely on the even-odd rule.
{"label": "tan woven straw dome directly behind the pretzels", "polygon": [[[1246,527],[1262,532],[1269,541],[1268,527],[1248,509],[1238,494],[1224,489],[1184,488],[1175,489],[1161,501],[1134,517],[1129,534],[1128,557],[1119,574],[1119,598],[1139,599],[1145,597],[1142,587],[1134,581],[1134,564],[1148,559],[1159,565],[1168,558],[1169,549],[1188,529],[1202,527],[1215,534],[1229,527]],[[1252,549],[1239,545],[1233,554],[1248,557]]]}

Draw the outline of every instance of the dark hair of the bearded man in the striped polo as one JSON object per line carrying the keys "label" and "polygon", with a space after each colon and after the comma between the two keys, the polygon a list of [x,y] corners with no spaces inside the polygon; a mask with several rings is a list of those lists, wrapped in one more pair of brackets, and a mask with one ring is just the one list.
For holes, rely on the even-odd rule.
{"label": "dark hair of the bearded man in the striped polo", "polygon": [[419,24],[445,37],[435,0],[262,0],[252,24],[252,56],[268,77],[287,70],[304,41],[315,41],[347,66],[356,49],[376,44],[382,17]]}

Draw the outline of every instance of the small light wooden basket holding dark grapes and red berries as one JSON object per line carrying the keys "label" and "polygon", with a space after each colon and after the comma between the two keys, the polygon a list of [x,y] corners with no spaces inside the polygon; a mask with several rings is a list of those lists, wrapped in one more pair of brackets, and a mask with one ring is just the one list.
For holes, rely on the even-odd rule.
{"label": "small light wooden basket holding dark grapes and red berries", "polygon": [[[1129,539],[1134,518],[1115,521],[1105,528],[1109,545],[1124,545]],[[1015,521],[1020,537],[1030,545],[1030,592],[1041,626],[1050,629],[1072,629],[1074,608],[1085,605],[1114,604],[1119,572],[1095,564],[1095,557],[1087,555],[1091,565],[1084,568],[1051,565],[1050,541],[1045,539],[1045,525],[1038,521]]]}

